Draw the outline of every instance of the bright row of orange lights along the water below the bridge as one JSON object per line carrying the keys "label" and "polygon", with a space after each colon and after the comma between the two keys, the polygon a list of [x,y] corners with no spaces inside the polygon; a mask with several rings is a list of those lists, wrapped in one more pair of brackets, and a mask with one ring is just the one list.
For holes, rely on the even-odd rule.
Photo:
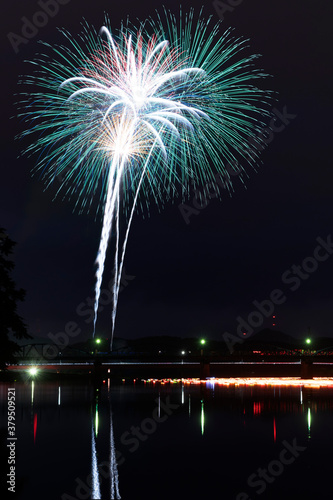
{"label": "bright row of orange lights along the water below the bridge", "polygon": [[217,385],[249,385],[249,386],[295,386],[295,387],[331,387],[333,388],[333,377],[322,378],[315,377],[313,379],[301,379],[297,377],[253,377],[253,378],[209,378],[206,380],[200,380],[199,378],[179,378],[179,379],[144,379],[145,383],[153,384],[187,384],[187,385],[200,385],[200,384],[217,384]]}

